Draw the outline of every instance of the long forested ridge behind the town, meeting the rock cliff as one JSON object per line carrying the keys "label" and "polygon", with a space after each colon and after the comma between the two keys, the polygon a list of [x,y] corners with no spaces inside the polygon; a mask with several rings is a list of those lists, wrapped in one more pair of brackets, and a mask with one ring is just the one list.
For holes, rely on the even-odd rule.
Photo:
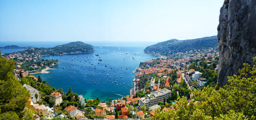
{"label": "long forested ridge behind the town, meeting the rock cliff", "polygon": [[208,47],[217,47],[217,36],[203,37],[197,39],[178,40],[170,39],[164,42],[159,42],[144,49],[145,53],[169,55],[177,52],[185,52],[194,49],[205,49]]}

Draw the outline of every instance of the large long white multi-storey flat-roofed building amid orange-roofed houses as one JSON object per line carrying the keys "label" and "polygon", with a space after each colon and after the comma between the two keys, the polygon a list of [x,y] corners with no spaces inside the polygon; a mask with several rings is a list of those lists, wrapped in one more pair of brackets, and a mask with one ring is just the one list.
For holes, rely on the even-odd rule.
{"label": "large long white multi-storey flat-roofed building amid orange-roofed houses", "polygon": [[151,94],[146,95],[146,97],[139,99],[139,106],[144,105],[146,108],[156,105],[159,102],[164,102],[164,98],[167,100],[171,96],[171,91],[164,88],[160,91],[155,91]]}

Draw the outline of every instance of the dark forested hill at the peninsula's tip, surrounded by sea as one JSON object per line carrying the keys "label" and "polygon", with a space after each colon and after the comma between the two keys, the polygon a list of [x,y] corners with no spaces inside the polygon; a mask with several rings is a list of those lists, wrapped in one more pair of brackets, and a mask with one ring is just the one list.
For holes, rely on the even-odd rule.
{"label": "dark forested hill at the peninsula's tip, surrounded by sea", "polygon": [[88,53],[94,52],[93,46],[90,44],[85,44],[83,42],[70,42],[68,44],[58,45],[51,48],[54,52],[63,53]]}

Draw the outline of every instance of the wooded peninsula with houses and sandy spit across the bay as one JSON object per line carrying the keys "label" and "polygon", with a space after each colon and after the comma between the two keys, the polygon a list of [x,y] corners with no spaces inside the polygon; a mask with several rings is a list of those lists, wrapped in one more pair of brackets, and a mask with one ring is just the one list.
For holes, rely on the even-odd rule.
{"label": "wooded peninsula with houses and sandy spit across the bay", "polygon": [[18,49],[24,48],[24,51],[18,51],[13,53],[6,53],[3,55],[6,59],[13,59],[15,66],[18,70],[26,71],[26,73],[48,73],[52,66],[58,64],[58,60],[41,59],[42,56],[47,55],[63,55],[74,53],[90,53],[94,52],[94,48],[90,44],[83,42],[70,42],[68,44],[58,45],[53,48],[44,47],[19,47],[17,45],[1,47],[5,49]]}

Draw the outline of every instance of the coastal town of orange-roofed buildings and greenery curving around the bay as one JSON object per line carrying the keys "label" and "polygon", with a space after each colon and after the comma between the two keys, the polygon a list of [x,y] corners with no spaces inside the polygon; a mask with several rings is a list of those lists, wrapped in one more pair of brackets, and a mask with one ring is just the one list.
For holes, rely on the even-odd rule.
{"label": "coastal town of orange-roofed buildings and greenery curving around the bay", "polygon": [[[191,50],[170,56],[161,55],[141,62],[133,71],[136,73],[133,79],[134,88],[130,89],[129,95],[116,100],[109,98],[108,101],[83,98],[82,95],[73,93],[72,88],[69,88],[67,93],[62,89],[56,90],[40,76],[35,77],[30,73],[31,71],[27,72],[28,70],[14,69],[14,72],[23,87],[30,91],[31,97],[27,99],[26,106],[33,111],[35,120],[150,120],[157,110],[175,110],[178,97],[185,96],[190,100],[191,91],[212,85],[212,82],[216,81],[209,80],[208,78],[212,79],[213,76],[207,76],[209,73],[205,72],[207,69],[208,72],[217,73],[218,51],[215,49]],[[15,59],[16,67],[20,68],[22,60],[33,59],[36,62],[41,56],[41,54],[25,52],[2,57]],[[43,63],[33,64],[32,67],[49,68],[58,63],[54,60],[49,61],[52,61],[49,66],[44,60]]]}

